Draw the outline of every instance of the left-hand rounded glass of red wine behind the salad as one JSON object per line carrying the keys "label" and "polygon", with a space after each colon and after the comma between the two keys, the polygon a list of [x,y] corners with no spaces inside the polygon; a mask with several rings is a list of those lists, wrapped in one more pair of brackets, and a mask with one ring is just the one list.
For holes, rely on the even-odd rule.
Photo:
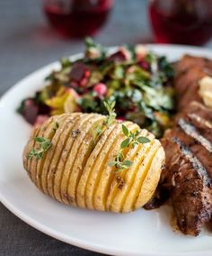
{"label": "left-hand rounded glass of red wine behind the salad", "polygon": [[113,0],[45,0],[50,25],[65,37],[82,38],[98,32],[106,22]]}

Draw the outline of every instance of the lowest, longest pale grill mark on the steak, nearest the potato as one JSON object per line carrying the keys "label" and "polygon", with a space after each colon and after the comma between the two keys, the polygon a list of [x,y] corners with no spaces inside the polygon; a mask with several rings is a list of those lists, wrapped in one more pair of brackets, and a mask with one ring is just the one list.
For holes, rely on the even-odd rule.
{"label": "lowest, longest pale grill mark on the steak, nearest the potato", "polygon": [[180,147],[182,155],[190,161],[193,169],[197,170],[199,178],[203,178],[203,181],[207,187],[211,185],[211,178],[208,176],[208,171],[204,168],[202,163],[195,157],[184,143],[181,142],[177,137],[172,137],[172,142],[175,142]]}

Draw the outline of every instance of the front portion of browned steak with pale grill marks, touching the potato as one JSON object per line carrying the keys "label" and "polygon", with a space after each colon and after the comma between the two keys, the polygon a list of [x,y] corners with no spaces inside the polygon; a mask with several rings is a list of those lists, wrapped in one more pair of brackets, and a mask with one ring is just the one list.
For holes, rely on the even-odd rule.
{"label": "front portion of browned steak with pale grill marks, touching the potato", "polygon": [[163,137],[166,168],[153,208],[171,196],[181,232],[198,235],[212,218],[212,110],[192,102]]}

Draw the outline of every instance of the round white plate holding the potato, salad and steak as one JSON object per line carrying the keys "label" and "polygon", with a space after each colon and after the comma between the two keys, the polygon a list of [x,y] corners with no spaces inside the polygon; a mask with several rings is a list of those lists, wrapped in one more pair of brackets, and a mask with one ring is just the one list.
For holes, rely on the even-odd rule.
{"label": "round white plate holding the potato, salad and steak", "polygon": [[[185,52],[212,58],[211,50],[149,45],[169,59]],[[43,87],[43,79],[58,63],[22,79],[0,101],[0,199],[14,215],[61,241],[115,255],[212,255],[212,237],[173,232],[171,210],[143,209],[128,215],[100,213],[64,206],[44,196],[22,168],[22,149],[31,127],[15,113],[22,98]]]}

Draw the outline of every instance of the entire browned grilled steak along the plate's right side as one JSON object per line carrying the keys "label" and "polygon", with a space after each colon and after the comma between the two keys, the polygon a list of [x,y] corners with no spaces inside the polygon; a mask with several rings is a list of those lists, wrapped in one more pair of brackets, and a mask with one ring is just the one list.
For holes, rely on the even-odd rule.
{"label": "entire browned grilled steak along the plate's right side", "polygon": [[212,74],[212,60],[185,55],[174,67],[179,114],[163,136],[165,169],[146,209],[171,198],[181,232],[197,236],[212,221],[212,110],[199,96],[199,80]]}

